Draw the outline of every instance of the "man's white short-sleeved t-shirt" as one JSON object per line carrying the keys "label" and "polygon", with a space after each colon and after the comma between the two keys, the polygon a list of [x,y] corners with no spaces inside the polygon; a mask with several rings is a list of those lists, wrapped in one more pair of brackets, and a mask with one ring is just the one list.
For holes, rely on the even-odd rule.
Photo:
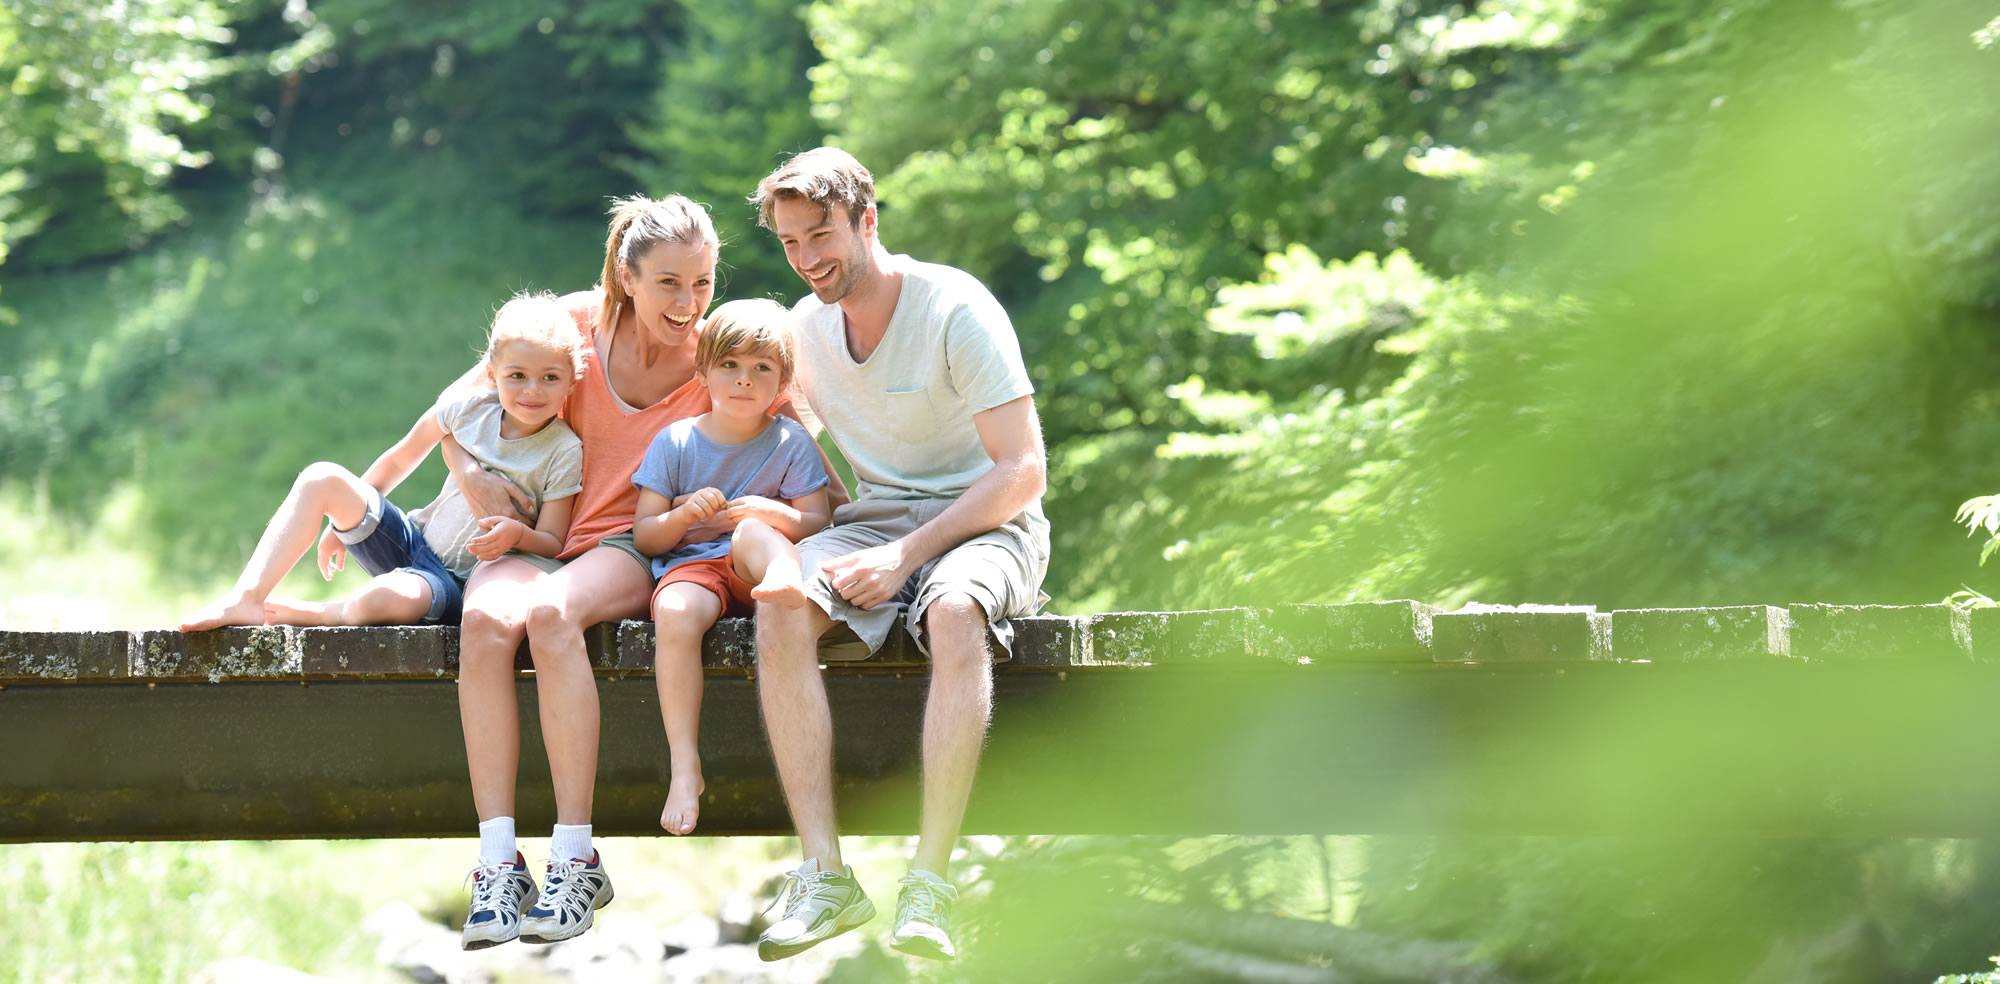
{"label": "man's white short-sleeved t-shirt", "polygon": [[[1034,392],[1020,340],[986,284],[964,270],[894,258],[902,292],[882,344],[856,362],[838,304],[806,294],[798,388],[854,466],[854,498],[958,498],[994,462],[972,416]],[[1026,508],[1046,536],[1042,500]]]}

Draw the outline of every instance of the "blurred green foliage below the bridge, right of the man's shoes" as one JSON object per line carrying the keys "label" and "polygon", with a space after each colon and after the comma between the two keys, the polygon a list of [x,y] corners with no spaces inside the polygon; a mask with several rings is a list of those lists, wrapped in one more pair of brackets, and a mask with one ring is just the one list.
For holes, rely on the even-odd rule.
{"label": "blurred green foliage below the bridge, right of the man's shoes", "polygon": [[[1988,846],[1808,838],[1008,838],[918,980],[1816,982],[1978,964]],[[928,970],[928,968],[924,968]]]}

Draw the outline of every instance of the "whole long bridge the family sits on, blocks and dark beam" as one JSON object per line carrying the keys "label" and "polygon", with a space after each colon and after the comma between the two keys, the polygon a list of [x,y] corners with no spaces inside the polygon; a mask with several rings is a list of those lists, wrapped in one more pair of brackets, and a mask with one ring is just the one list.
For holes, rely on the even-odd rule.
{"label": "whole long bridge the family sits on, blocks and dark beam", "polygon": [[[900,634],[898,634],[900,638]],[[656,832],[652,626],[590,632],[594,822]],[[702,834],[784,834],[750,626],[704,648]],[[462,834],[456,630],[0,632],[0,840]],[[554,816],[522,656],[524,830]],[[846,832],[916,826],[926,672],[834,664]],[[2000,828],[2000,610],[1416,602],[1028,618],[968,832]]]}

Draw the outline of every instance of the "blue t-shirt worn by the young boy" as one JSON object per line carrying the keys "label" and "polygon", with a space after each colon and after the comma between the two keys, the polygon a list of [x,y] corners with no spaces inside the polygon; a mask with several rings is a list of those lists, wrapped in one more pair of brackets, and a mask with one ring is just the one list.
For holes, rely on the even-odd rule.
{"label": "blue t-shirt worn by the young boy", "polygon": [[[668,424],[652,438],[646,460],[632,472],[632,484],[672,500],[702,488],[716,488],[722,498],[764,496],[794,500],[826,484],[826,466],[796,420],[774,416],[762,434],[742,444],[720,444],[702,436],[696,418]],[[730,536],[700,544],[684,544],[652,558],[652,576],[690,560],[728,556]]]}

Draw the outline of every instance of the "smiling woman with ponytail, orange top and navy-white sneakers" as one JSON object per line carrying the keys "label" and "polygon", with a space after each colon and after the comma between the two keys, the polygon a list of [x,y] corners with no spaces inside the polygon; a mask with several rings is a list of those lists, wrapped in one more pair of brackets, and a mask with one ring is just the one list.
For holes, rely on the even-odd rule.
{"label": "smiling woman with ponytail, orange top and navy-white sneakers", "polygon": [[[584,442],[584,488],[570,534],[554,560],[510,554],[480,564],[466,584],[460,628],[458,714],[480,814],[480,864],[464,946],[566,940],[590,928],[612,898],[590,846],[590,800],[598,768],[598,688],[584,652],[584,628],[644,618],[652,568],[632,546],[638,468],[666,424],[708,410],[694,378],[698,324],[714,300],[720,240],[708,212],[682,196],[626,198],[612,208],[604,280],[570,294],[564,306],[590,344],[566,404]],[[792,414],[780,400],[780,412]],[[478,514],[510,514],[520,502],[500,478],[446,442],[446,462]],[[720,530],[722,526],[716,526]],[[714,530],[690,532],[690,540]],[[526,860],[514,846],[514,782],[520,764],[520,708],[514,652],[534,654],[542,740],[556,792],[548,878],[534,906]]]}

